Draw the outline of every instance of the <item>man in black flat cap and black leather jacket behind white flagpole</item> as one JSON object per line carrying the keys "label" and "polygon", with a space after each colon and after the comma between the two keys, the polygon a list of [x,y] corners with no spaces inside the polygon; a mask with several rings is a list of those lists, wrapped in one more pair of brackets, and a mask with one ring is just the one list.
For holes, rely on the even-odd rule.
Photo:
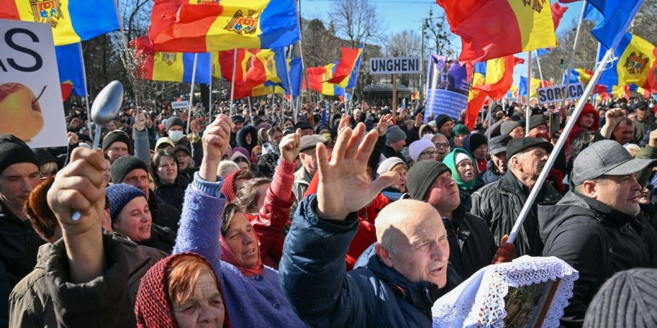
{"label": "man in black flat cap and black leather jacket behind white flagpole", "polygon": [[[486,220],[495,243],[500,243],[505,235],[510,234],[552,150],[551,143],[538,138],[510,140],[507,144],[507,173],[497,182],[472,194],[470,213]],[[539,203],[556,202],[560,198],[561,195],[551,184],[543,184],[520,229],[520,238],[514,240],[518,256],[541,255],[543,242],[539,236],[537,206]]]}

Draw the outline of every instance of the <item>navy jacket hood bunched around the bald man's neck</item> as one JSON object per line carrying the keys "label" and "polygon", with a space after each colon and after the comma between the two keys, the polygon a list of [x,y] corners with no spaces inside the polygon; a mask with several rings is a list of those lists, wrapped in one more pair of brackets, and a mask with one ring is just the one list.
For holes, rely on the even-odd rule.
{"label": "navy jacket hood bunched around the bald man's neck", "polygon": [[384,281],[397,297],[413,304],[415,308],[429,317],[431,317],[431,307],[434,302],[462,282],[461,277],[449,264],[447,265],[447,284],[442,289],[429,281],[411,282],[394,268],[386,266],[376,255],[374,245],[376,243],[368,247],[358,258],[353,266],[354,270],[367,268],[373,272],[374,276]]}

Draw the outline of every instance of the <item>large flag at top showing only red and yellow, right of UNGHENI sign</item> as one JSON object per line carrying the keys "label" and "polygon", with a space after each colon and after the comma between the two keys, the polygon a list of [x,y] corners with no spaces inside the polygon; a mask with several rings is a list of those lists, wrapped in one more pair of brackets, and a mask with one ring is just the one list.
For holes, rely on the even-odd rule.
{"label": "large flag at top showing only red and yellow, right of UNGHENI sign", "polygon": [[484,62],[556,46],[550,2],[545,0],[436,0],[450,30],[461,36],[459,61]]}

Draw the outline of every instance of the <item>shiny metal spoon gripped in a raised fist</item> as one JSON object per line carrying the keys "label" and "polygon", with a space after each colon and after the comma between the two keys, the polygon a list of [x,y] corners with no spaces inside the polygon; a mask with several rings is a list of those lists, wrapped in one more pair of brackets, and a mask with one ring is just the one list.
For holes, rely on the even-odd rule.
{"label": "shiny metal spoon gripped in a raised fist", "polygon": [[[96,134],[93,137],[93,147],[96,150],[101,142],[102,126],[110,123],[118,115],[123,104],[123,85],[119,81],[112,81],[99,92],[91,105],[91,120],[96,123]],[[72,220],[80,219],[80,213],[74,211]]]}

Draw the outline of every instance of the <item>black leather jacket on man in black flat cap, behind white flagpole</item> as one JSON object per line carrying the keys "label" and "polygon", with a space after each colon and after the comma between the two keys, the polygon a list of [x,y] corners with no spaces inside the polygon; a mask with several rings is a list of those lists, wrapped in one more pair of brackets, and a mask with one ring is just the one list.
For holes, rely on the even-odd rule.
{"label": "black leather jacket on man in black flat cap, behind white flagpole", "polygon": [[[526,186],[520,188],[520,182],[511,171],[497,182],[489,184],[472,194],[470,213],[486,220],[488,227],[499,245],[504,235],[510,234],[523,205],[530,194]],[[543,243],[539,237],[537,206],[539,203],[556,202],[561,195],[555,188],[545,183],[538,193],[531,211],[520,228],[520,234],[513,242],[518,256],[541,256]]]}

